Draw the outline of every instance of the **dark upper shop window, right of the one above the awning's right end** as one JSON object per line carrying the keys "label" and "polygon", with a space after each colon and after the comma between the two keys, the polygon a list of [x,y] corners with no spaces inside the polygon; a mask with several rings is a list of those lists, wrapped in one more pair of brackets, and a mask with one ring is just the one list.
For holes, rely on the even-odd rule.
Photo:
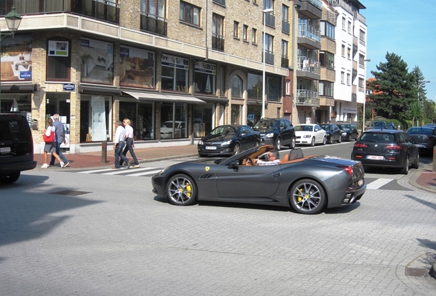
{"label": "dark upper shop window, right of the one above the awning's right end", "polygon": [[195,93],[215,94],[217,66],[206,62],[195,62],[194,71]]}

